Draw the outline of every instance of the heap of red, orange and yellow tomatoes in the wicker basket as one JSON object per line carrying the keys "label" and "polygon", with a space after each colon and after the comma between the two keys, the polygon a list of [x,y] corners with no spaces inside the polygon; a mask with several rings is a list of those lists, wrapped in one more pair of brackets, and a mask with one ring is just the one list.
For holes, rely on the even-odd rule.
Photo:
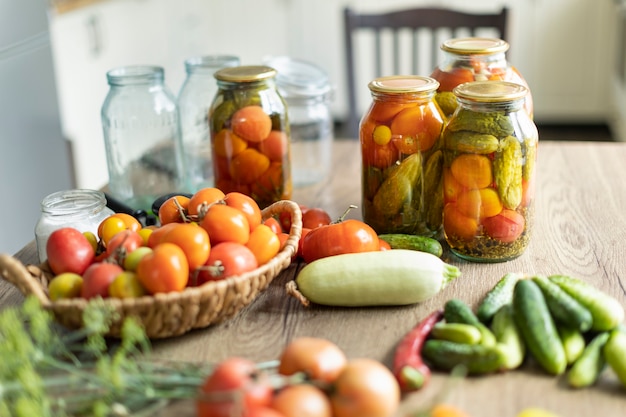
{"label": "heap of red, orange and yellow tomatoes in the wicker basket", "polygon": [[142,227],[115,213],[97,236],[72,227],[54,231],[47,257],[55,277],[49,295],[117,297],[182,291],[252,271],[280,251],[286,239],[265,224],[249,196],[204,188],[175,195],[159,209],[159,226]]}

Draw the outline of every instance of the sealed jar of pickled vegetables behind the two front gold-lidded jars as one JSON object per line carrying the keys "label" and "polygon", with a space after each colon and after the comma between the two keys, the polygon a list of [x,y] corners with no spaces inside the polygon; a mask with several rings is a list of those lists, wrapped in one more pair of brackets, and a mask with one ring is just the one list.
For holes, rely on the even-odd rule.
{"label": "sealed jar of pickled vegetables behind the two front gold-lidded jars", "polygon": [[[509,64],[506,51],[509,44],[497,38],[454,38],[441,45],[443,61],[435,68],[431,77],[439,81],[435,100],[443,113],[450,117],[457,106],[452,93],[454,87],[470,81],[510,81],[528,88],[520,72]],[[533,117],[533,100],[526,95],[524,107]]]}

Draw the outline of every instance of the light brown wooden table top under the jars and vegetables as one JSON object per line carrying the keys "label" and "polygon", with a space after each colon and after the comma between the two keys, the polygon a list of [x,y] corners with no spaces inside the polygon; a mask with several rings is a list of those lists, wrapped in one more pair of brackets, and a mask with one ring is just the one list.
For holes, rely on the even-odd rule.
{"label": "light brown wooden table top under the jars and vegetables", "polygon": [[[360,157],[356,141],[336,141],[334,174],[326,183],[297,190],[293,199],[339,216],[360,204]],[[536,221],[531,243],[521,257],[477,264],[446,256],[463,276],[435,298],[407,307],[305,308],[285,294],[284,284],[302,265],[292,264],[235,318],[184,336],[154,342],[159,358],[219,361],[231,355],[255,361],[276,359],[297,336],[336,342],[351,358],[371,357],[391,365],[400,338],[446,300],[458,297],[475,307],[505,273],[563,273],[594,284],[626,306],[626,143],[542,142],[538,154]],[[358,210],[349,217],[358,218]],[[34,243],[16,254],[36,263]],[[0,306],[17,305],[22,296],[0,282]],[[407,396],[402,411],[428,404],[450,378],[436,373],[431,383]],[[626,389],[607,370],[599,383],[568,389],[563,378],[548,376],[532,364],[498,375],[471,377],[454,384],[449,401],[474,417],[514,417],[527,407],[542,407],[561,417],[626,415]],[[163,416],[193,416],[189,403]],[[401,413],[405,415],[405,413]]]}

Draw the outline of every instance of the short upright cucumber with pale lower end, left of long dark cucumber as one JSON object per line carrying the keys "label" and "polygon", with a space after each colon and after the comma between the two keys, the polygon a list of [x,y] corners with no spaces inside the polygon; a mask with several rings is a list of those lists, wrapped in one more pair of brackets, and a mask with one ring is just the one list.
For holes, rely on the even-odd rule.
{"label": "short upright cucumber with pale lower end, left of long dark cucumber", "polygon": [[515,369],[524,362],[526,345],[513,317],[513,306],[505,304],[493,316],[491,331],[505,353],[504,367]]}

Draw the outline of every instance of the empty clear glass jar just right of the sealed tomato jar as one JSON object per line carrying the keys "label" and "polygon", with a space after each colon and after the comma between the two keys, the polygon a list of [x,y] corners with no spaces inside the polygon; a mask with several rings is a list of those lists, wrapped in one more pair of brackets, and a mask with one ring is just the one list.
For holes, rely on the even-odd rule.
{"label": "empty clear glass jar just right of the sealed tomato jar", "polygon": [[277,70],[276,86],[287,103],[293,185],[317,184],[328,177],[332,162],[334,130],[328,75],[310,62],[290,57],[273,57],[266,62]]}

